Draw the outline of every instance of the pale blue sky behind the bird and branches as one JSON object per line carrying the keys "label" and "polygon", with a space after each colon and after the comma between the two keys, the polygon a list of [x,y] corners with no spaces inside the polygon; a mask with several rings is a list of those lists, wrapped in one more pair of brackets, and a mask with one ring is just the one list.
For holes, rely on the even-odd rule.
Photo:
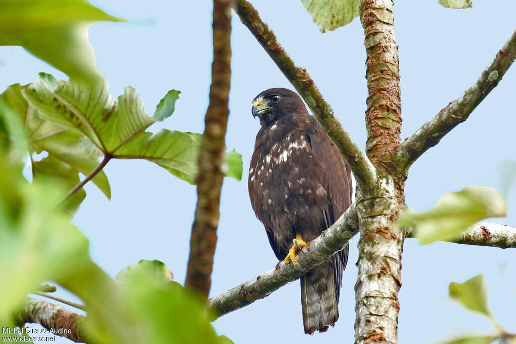
{"label": "pale blue sky behind the bird and branches", "polygon": [[[202,132],[212,60],[211,2],[92,3],[130,21],[97,23],[90,29],[98,67],[109,81],[111,94],[118,96],[124,86],[133,86],[152,114],[169,89],[181,90],[173,116],[150,130],[166,127]],[[307,68],[345,129],[364,148],[367,90],[360,21],[322,35],[299,0],[254,3],[286,51]],[[473,9],[451,10],[437,0],[398,0],[394,11],[404,139],[474,83],[516,28],[516,2],[478,0]],[[233,19],[232,45],[227,144],[243,155],[244,177],[242,182],[224,181],[212,296],[277,263],[247,192],[249,159],[259,129],[250,108],[253,97],[264,89],[292,89],[237,17]],[[0,68],[2,90],[13,83],[35,81],[41,71],[65,78],[20,47],[0,47],[0,59],[5,63]],[[469,120],[414,163],[405,187],[407,204],[422,211],[433,206],[442,193],[465,185],[500,188],[498,163],[516,159],[515,89],[513,67]],[[90,239],[93,259],[112,276],[139,259],[159,259],[172,270],[176,281],[183,283],[195,186],[147,161],[112,160],[105,172],[111,184],[111,201],[89,183],[88,196],[73,221]],[[514,225],[516,187],[507,201],[509,216],[500,221]],[[334,329],[321,335],[303,334],[296,281],[223,316],[214,322],[216,330],[237,344],[352,342],[356,245],[354,238],[341,291],[340,319]],[[488,320],[447,299],[449,282],[463,282],[480,273],[487,277],[493,314],[508,331],[516,332],[514,251],[442,242],[420,246],[414,239],[406,240],[404,249],[400,343],[434,343],[460,333],[493,331]]]}

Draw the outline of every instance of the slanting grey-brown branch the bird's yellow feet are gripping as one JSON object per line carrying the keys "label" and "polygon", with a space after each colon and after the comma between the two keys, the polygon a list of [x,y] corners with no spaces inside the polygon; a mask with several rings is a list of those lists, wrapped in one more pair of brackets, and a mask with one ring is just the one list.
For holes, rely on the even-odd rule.
{"label": "slanting grey-brown branch the bird's yellow feet are gripping", "polygon": [[280,261],[275,267],[256,278],[209,299],[209,305],[214,307],[220,315],[224,315],[269,296],[271,292],[298,279],[308,270],[340,251],[358,233],[357,228],[357,210],[352,204],[333,225],[308,244],[304,249],[304,255],[297,256],[303,271],[287,266]]}

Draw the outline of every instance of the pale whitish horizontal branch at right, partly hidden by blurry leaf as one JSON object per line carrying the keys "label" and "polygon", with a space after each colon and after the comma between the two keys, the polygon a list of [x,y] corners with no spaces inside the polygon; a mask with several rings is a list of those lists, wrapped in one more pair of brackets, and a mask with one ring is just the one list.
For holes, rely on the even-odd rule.
{"label": "pale whitish horizontal branch at right, partly hidden by blurry leaf", "polygon": [[[413,238],[413,234],[411,231],[407,237]],[[467,228],[459,238],[449,242],[501,249],[516,248],[516,227],[498,223],[477,223]]]}

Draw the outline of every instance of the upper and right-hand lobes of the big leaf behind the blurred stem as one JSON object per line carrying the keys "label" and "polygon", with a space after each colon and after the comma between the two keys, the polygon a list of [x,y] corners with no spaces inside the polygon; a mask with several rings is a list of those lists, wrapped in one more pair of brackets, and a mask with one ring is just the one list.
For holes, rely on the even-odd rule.
{"label": "upper and right-hand lobes of the big leaf behind the blurred stem", "polygon": [[[99,151],[114,158],[147,159],[170,173],[195,183],[200,134],[162,129],[145,132],[158,118],[149,117],[141,96],[126,87],[118,102],[109,94],[107,81],[93,86],[78,81],[58,81],[55,90],[43,79],[22,91],[41,117],[84,136]],[[156,109],[159,119],[170,116],[178,92],[168,93]],[[241,178],[241,156],[230,153],[227,175]]]}

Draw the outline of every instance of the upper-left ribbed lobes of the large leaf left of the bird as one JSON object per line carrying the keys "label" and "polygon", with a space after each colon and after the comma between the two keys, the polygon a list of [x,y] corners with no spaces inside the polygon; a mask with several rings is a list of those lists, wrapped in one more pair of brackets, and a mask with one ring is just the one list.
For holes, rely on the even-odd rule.
{"label": "upper-left ribbed lobes of the large leaf left of the bird", "polygon": [[134,88],[126,87],[116,103],[106,80],[94,85],[59,80],[54,92],[39,80],[23,95],[43,118],[85,135],[109,154],[156,121],[147,115]]}

